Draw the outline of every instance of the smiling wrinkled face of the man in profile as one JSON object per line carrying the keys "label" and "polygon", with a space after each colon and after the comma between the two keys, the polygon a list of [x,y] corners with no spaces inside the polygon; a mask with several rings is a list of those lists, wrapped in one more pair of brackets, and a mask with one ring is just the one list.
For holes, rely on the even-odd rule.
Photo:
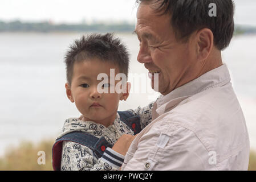
{"label": "smiling wrinkled face of the man in profile", "polygon": [[[194,73],[194,49],[189,43],[178,42],[170,25],[170,15],[157,14],[152,5],[141,3],[137,10],[135,32],[140,41],[137,60],[149,73],[159,73],[159,92],[168,94],[190,81]],[[149,74],[151,75],[151,74]],[[153,77],[151,78],[153,88]]]}

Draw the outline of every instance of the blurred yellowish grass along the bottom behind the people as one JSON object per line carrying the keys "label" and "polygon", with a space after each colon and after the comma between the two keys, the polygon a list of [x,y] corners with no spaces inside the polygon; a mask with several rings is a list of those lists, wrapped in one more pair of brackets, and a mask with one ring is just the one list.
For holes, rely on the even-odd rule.
{"label": "blurred yellowish grass along the bottom behind the people", "polygon": [[[0,170],[52,170],[51,148],[53,143],[54,139],[49,139],[38,144],[22,142],[18,147],[8,148],[9,152],[0,158]],[[38,164],[38,158],[42,157],[42,155],[38,156],[39,151],[45,152],[45,164]],[[253,150],[250,151],[248,170],[256,171],[256,152]]]}

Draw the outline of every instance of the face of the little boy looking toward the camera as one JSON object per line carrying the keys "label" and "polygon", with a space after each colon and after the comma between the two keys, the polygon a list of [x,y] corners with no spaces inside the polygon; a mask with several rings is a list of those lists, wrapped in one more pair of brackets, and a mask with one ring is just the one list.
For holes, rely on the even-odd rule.
{"label": "face of the little boy looking toward the camera", "polygon": [[[75,62],[71,85],[65,85],[66,93],[70,101],[75,102],[84,121],[94,121],[104,126],[111,125],[116,118],[119,101],[128,97],[128,82],[125,83],[126,93],[109,92],[111,87],[115,87],[120,81],[115,80],[115,85],[109,85],[110,69],[115,69],[115,76],[119,73],[119,68],[115,64],[99,59]],[[104,84],[102,80],[97,80],[100,73],[108,75],[108,80]],[[99,88],[107,89],[108,93],[99,93]]]}

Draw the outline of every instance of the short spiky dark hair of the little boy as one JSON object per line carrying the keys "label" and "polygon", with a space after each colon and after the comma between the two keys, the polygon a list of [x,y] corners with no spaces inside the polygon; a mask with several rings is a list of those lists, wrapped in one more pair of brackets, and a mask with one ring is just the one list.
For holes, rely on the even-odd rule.
{"label": "short spiky dark hair of the little boy", "polygon": [[75,40],[66,53],[64,62],[68,84],[71,84],[75,62],[94,58],[117,65],[119,72],[128,76],[129,54],[120,39],[111,33],[90,34]]}

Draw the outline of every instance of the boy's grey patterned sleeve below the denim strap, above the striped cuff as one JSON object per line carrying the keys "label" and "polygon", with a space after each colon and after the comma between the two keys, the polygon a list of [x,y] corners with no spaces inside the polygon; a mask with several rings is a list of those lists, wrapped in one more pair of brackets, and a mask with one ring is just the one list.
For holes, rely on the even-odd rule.
{"label": "boy's grey patterned sleeve below the denim strap, above the striped cuff", "polygon": [[112,165],[108,160],[97,159],[90,148],[79,143],[63,142],[62,171],[116,171],[120,166],[121,164]]}

